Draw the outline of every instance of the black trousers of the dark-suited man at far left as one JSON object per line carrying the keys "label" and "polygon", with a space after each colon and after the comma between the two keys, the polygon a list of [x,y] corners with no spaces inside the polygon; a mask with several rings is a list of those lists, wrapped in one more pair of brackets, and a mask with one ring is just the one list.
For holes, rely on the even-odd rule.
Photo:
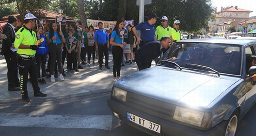
{"label": "black trousers of the dark-suited man at far left", "polygon": [[7,63],[7,79],[8,79],[8,88],[14,88],[20,86],[18,78],[18,67],[17,67],[17,56],[16,52],[8,51],[4,54],[4,58]]}

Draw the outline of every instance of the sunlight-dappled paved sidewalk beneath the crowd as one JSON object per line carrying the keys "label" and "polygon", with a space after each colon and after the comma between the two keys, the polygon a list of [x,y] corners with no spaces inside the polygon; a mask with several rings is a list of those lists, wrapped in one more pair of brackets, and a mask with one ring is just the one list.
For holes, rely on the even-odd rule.
{"label": "sunlight-dappled paved sidewalk beneath the crowd", "polygon": [[[97,62],[98,60],[95,60]],[[110,92],[113,86],[113,61],[112,54],[109,55],[110,70],[103,66],[99,70],[99,64],[81,65],[84,69],[74,74],[64,76],[65,81],[50,82],[46,78],[47,84],[39,85],[41,91],[47,94],[47,97],[34,97],[32,84],[28,82],[28,96],[31,102],[47,102],[60,99],[69,99],[79,96],[88,96],[91,94]],[[121,67],[121,77],[136,72],[136,64],[126,64]],[[64,64],[66,70],[66,62]],[[19,75],[18,75],[19,76]],[[20,91],[8,91],[7,64],[4,56],[0,56],[0,104],[24,103],[21,100]]]}

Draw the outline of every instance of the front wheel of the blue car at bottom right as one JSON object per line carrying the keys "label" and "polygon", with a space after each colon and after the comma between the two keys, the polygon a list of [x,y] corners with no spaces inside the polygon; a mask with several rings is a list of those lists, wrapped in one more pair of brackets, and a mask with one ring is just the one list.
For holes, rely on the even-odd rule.
{"label": "front wheel of the blue car at bottom right", "polygon": [[235,136],[236,128],[238,126],[238,111],[236,110],[228,120],[224,136]]}

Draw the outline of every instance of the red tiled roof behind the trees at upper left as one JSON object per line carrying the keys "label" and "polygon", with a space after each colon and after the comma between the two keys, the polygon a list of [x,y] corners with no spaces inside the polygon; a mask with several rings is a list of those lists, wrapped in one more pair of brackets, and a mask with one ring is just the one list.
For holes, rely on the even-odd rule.
{"label": "red tiled roof behind the trees at upper left", "polygon": [[[55,13],[55,12],[51,12],[51,11],[48,11],[48,10],[42,10],[42,9],[40,9],[40,14],[44,15],[44,17],[40,18],[40,19],[54,19],[56,16],[64,16],[62,14],[58,14],[58,13]],[[20,16],[20,14],[13,14],[12,16],[16,16],[18,18]],[[67,20],[74,20],[74,18],[72,18],[70,16],[66,16],[66,17],[67,17]],[[7,20],[8,16],[4,16],[4,17],[2,17],[2,19]]]}

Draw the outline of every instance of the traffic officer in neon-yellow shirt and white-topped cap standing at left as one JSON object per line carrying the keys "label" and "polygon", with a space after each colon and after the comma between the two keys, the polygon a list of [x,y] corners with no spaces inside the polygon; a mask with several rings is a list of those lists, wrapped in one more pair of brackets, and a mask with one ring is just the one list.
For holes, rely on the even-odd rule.
{"label": "traffic officer in neon-yellow shirt and white-topped cap standing at left", "polygon": [[35,60],[36,50],[39,49],[34,45],[36,40],[36,32],[32,28],[36,25],[36,17],[28,13],[24,17],[24,26],[16,32],[14,47],[18,48],[18,68],[20,74],[20,92],[22,100],[29,102],[27,91],[28,72],[30,73],[31,82],[34,90],[34,96],[45,97],[46,94],[40,92],[37,82],[37,65]]}

